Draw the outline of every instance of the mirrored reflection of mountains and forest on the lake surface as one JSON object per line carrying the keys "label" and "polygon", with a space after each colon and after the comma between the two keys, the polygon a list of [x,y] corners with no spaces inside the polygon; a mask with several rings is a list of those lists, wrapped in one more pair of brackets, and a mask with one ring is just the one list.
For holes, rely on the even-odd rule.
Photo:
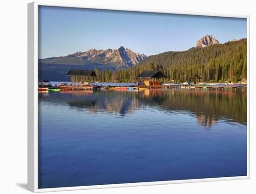
{"label": "mirrored reflection of mountains and forest on the lake surface", "polygon": [[[50,97],[50,98],[49,98]],[[245,90],[205,91],[182,89],[78,90],[61,93],[39,93],[39,99],[54,105],[68,105],[77,111],[119,114],[124,117],[145,107],[168,113],[186,112],[203,127],[210,127],[218,120],[239,122],[246,125],[247,102]]]}

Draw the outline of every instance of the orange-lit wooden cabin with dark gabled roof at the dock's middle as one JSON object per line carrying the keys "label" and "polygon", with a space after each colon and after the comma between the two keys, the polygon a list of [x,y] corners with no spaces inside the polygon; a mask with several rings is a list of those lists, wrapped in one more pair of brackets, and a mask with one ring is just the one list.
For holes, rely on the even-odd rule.
{"label": "orange-lit wooden cabin with dark gabled roof at the dock's middle", "polygon": [[160,86],[162,85],[162,81],[159,79],[165,77],[161,71],[144,71],[135,78],[139,79],[139,86]]}

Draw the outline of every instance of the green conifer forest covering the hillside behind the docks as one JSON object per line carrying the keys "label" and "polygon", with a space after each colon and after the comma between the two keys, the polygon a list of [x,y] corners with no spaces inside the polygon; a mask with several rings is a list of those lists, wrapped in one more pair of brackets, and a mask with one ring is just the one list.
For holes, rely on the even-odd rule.
{"label": "green conifer forest covering the hillside behind the docks", "polygon": [[224,44],[204,48],[190,48],[182,52],[165,52],[151,55],[135,67],[125,70],[105,70],[94,72],[100,82],[133,82],[143,71],[161,70],[167,78],[165,82],[188,81],[197,74],[201,81],[223,82],[247,79],[247,39],[229,41]]}

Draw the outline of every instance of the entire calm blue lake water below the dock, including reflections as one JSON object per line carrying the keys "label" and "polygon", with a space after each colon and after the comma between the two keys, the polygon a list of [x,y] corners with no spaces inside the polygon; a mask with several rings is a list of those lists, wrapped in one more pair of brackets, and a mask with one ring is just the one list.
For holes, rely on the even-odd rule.
{"label": "entire calm blue lake water below the dock, including reflections", "polygon": [[39,93],[39,187],[244,176],[247,94]]}

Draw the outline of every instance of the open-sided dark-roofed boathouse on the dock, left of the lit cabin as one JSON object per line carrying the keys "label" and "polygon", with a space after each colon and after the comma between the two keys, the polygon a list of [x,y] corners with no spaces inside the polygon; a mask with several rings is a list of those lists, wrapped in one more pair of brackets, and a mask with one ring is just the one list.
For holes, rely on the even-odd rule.
{"label": "open-sided dark-roofed boathouse on the dock, left of the lit cabin", "polygon": [[91,80],[96,79],[96,74],[93,70],[78,70],[78,69],[71,69],[67,75],[67,77],[71,78],[71,82],[89,82]]}

